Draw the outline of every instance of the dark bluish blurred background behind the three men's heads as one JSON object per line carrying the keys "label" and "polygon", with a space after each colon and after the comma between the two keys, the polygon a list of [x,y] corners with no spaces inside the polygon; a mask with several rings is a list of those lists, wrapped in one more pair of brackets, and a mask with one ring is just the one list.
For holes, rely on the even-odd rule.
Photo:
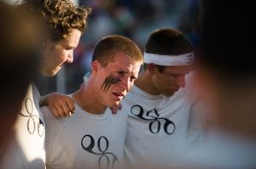
{"label": "dark bluish blurred background behind the three men's heads", "polygon": [[130,37],[142,52],[150,32],[160,27],[177,28],[189,37],[195,48],[199,44],[200,0],[73,0],[73,3],[92,8],[89,26],[74,52],[73,64],[63,67],[57,76],[39,78],[37,86],[42,95],[76,91],[90,70],[96,42],[109,34]]}

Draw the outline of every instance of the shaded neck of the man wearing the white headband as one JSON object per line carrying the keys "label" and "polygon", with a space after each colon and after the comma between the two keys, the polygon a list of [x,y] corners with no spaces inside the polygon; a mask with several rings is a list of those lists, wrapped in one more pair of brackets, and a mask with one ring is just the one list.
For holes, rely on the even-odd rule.
{"label": "shaded neck of the man wearing the white headband", "polygon": [[147,70],[144,70],[134,83],[146,93],[160,95],[160,92],[157,91],[152,83],[152,75],[150,75]]}

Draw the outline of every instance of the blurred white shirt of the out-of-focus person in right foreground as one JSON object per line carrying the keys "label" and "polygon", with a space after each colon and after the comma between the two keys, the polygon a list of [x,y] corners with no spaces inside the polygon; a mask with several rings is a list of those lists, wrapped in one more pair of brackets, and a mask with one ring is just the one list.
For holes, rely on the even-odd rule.
{"label": "blurred white shirt of the out-of-focus person in right foreground", "polygon": [[255,139],[216,130],[211,132],[208,142],[183,159],[183,168],[254,169],[255,157]]}

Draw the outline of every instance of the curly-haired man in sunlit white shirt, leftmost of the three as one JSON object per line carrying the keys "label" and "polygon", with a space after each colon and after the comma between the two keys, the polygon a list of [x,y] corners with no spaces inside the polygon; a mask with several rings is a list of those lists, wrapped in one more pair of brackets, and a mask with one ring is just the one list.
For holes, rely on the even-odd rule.
{"label": "curly-haired man in sunlit white shirt, leftmost of the three", "polygon": [[[43,36],[38,39],[43,55],[40,73],[55,76],[62,65],[73,62],[73,50],[86,28],[90,8],[75,6],[70,0],[26,0],[17,8],[25,8],[44,24]],[[40,100],[37,87],[31,84],[15,121],[14,134],[0,159],[0,168],[45,168],[45,124]]]}

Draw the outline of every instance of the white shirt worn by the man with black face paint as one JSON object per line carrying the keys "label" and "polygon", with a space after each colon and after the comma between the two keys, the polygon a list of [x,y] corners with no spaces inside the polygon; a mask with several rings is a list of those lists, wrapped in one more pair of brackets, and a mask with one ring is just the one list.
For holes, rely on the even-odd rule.
{"label": "white shirt worn by the man with black face paint", "polygon": [[[127,115],[112,115],[109,109],[102,115],[92,115],[81,110],[78,104],[75,104],[75,108],[72,116],[61,119],[55,119],[48,107],[42,108],[47,123],[47,167],[99,168],[101,164],[102,168],[107,168],[107,158],[109,168],[120,166],[123,161]],[[94,139],[94,145],[88,135]],[[106,139],[101,137],[108,139],[108,147]],[[101,148],[98,147],[99,140]],[[83,149],[82,143],[84,148],[91,144],[92,151],[98,155]]]}

